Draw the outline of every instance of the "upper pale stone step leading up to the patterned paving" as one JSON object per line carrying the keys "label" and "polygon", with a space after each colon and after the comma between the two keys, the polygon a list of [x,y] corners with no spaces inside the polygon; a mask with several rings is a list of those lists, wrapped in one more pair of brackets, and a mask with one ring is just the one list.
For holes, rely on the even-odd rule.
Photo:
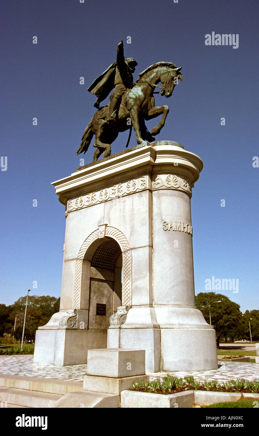
{"label": "upper pale stone step leading up to the patterned paving", "polygon": [[69,392],[81,391],[83,389],[83,381],[0,374],[0,387],[66,395]]}

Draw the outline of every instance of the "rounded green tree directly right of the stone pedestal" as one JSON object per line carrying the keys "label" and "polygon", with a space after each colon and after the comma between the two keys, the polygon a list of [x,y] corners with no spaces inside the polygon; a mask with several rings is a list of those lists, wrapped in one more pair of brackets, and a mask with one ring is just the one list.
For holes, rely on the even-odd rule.
{"label": "rounded green tree directly right of the stone pedestal", "polygon": [[[221,300],[221,303],[212,304],[214,301]],[[216,330],[217,344],[219,337],[231,337],[239,339],[244,335],[244,320],[240,306],[229,300],[229,297],[215,292],[200,292],[195,296],[195,306],[200,310],[209,324],[209,304],[211,304],[211,320]]]}

